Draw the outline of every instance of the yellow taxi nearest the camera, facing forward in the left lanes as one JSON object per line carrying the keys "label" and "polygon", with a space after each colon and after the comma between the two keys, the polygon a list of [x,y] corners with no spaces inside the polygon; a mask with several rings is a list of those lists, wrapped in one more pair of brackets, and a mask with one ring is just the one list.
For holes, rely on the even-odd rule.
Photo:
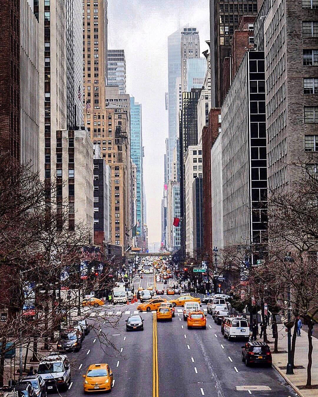
{"label": "yellow taxi nearest the camera, facing forward in the left lanes", "polygon": [[112,390],[114,377],[108,364],[91,364],[83,378],[84,393]]}

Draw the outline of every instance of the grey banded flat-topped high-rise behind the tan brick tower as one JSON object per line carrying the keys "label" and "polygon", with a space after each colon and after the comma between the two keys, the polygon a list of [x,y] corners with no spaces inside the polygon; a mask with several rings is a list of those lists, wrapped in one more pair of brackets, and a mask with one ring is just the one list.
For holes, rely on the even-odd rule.
{"label": "grey banded flat-topped high-rise behind the tan brick tower", "polygon": [[126,60],[124,50],[108,50],[107,85],[118,85],[119,93],[126,93]]}

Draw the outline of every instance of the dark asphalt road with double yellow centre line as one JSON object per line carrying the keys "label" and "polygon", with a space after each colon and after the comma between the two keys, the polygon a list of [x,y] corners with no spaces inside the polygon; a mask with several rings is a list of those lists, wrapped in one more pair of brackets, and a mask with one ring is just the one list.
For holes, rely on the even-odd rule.
{"label": "dark asphalt road with double yellow centre line", "polygon": [[[149,284],[154,284],[153,275],[144,275],[143,279],[137,277],[134,281],[135,290],[139,285],[146,288]],[[167,286],[169,284],[164,287]],[[163,284],[157,284],[157,287],[163,287]],[[224,339],[220,326],[209,314],[206,330],[187,330],[181,308],[180,312],[175,308],[172,323],[160,322],[156,326],[154,314],[144,312],[141,316],[145,319],[145,330],[126,332],[128,312],[133,314],[136,307],[135,303],[88,310],[87,316],[94,329],[85,338],[80,352],[68,354],[72,383],[67,392],[61,393],[62,396],[83,395],[82,374],[89,364],[98,362],[107,362],[112,368],[115,383],[111,394],[118,397],[295,396],[274,368],[245,367],[241,361],[243,342]],[[157,329],[158,352],[153,349],[154,329]],[[104,337],[109,340],[106,345],[101,343]],[[153,394],[157,378],[153,376],[156,357],[159,394]],[[240,390],[242,386],[243,390]],[[54,394],[58,395],[51,393]]]}

